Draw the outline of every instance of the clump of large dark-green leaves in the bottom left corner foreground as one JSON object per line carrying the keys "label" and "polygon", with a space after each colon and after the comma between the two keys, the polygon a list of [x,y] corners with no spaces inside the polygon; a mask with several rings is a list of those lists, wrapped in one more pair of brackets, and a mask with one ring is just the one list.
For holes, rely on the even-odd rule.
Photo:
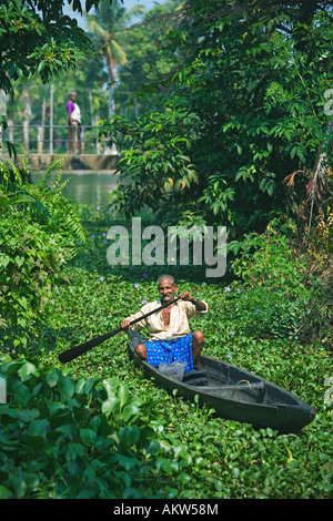
{"label": "clump of large dark-green leaves in the bottom left corner foreground", "polygon": [[2,360],[0,498],[168,498],[185,461],[162,449],[152,401],[118,378],[78,378]]}

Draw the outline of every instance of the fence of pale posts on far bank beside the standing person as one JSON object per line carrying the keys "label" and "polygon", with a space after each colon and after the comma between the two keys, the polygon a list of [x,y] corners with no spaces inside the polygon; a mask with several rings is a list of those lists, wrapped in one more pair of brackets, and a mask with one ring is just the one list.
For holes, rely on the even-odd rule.
{"label": "fence of pale posts on far bank beside the standing person", "polygon": [[117,154],[114,147],[95,140],[98,126],[80,125],[80,140],[75,140],[75,127],[68,125],[9,124],[3,132],[3,141],[14,144],[17,152],[27,154]]}

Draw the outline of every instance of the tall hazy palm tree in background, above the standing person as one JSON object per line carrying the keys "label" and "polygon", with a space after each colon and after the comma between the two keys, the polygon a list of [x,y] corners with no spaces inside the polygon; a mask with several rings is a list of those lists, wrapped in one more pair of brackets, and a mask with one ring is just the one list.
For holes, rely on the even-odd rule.
{"label": "tall hazy palm tree in background, above the standing person", "polygon": [[97,51],[103,55],[107,64],[109,86],[109,118],[114,114],[113,89],[117,65],[127,65],[125,42],[128,24],[132,17],[144,14],[142,6],[135,6],[127,12],[119,1],[102,0],[95,14],[84,13],[87,27],[94,35]]}

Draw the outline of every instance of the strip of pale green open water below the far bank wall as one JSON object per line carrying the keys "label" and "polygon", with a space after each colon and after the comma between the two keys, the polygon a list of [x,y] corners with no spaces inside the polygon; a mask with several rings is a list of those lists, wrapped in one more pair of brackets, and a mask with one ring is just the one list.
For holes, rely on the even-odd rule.
{"label": "strip of pale green open water below the far bank wall", "polygon": [[[38,183],[43,177],[42,172],[31,174],[32,182]],[[52,183],[54,177],[51,177]],[[69,178],[62,191],[62,195],[79,204],[89,204],[105,208],[109,204],[110,193],[117,188],[119,176],[110,173],[65,173],[61,176],[61,183]],[[48,184],[50,184],[50,182]]]}

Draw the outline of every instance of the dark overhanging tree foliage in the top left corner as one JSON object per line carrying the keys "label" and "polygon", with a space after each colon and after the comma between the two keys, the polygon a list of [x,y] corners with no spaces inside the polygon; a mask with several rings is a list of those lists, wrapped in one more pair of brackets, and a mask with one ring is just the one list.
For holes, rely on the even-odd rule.
{"label": "dark overhanging tree foliage in the top left corner", "polygon": [[[97,6],[99,2],[87,2]],[[74,9],[81,10],[81,2]],[[62,12],[63,2],[1,2],[0,20],[3,63],[0,88],[13,93],[13,81],[37,73],[43,82],[71,69],[90,52],[90,41],[75,20]]]}

